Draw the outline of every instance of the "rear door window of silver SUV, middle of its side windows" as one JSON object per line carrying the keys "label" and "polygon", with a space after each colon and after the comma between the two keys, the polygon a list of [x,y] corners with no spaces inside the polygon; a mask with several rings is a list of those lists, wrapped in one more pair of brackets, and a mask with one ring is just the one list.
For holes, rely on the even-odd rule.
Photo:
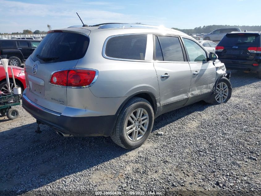
{"label": "rear door window of silver SUV, middle of its side windows", "polygon": [[158,36],[164,61],[184,61],[178,37]]}

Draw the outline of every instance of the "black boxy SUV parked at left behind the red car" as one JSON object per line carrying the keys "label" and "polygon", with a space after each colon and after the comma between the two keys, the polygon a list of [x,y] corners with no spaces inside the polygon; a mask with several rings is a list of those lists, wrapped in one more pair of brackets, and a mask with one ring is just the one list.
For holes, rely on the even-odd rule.
{"label": "black boxy SUV parked at left behind the red car", "polygon": [[0,40],[0,55],[7,55],[9,65],[20,67],[39,44],[40,40]]}

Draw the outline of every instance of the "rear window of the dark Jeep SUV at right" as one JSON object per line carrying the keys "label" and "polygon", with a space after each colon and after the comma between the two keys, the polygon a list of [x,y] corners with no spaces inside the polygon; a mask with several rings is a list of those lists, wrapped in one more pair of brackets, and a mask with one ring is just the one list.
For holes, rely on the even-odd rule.
{"label": "rear window of the dark Jeep SUV at right", "polygon": [[256,33],[233,33],[226,34],[218,44],[221,45],[247,45],[257,46],[260,41],[260,35]]}

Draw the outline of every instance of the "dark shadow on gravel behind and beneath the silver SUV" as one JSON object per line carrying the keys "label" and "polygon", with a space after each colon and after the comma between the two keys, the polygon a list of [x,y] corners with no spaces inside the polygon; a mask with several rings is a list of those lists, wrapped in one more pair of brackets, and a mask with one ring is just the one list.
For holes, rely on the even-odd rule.
{"label": "dark shadow on gravel behind and beneath the silver SUV", "polygon": [[109,137],[64,138],[45,125],[37,134],[36,127],[32,123],[0,132],[0,194],[22,194],[130,151]]}

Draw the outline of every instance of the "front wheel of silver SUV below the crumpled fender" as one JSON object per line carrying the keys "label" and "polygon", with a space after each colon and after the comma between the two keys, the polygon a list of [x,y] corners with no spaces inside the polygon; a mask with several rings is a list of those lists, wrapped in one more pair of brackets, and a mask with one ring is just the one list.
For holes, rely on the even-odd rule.
{"label": "front wheel of silver SUV below the crumpled fender", "polygon": [[226,77],[222,77],[217,84],[215,93],[212,94],[211,101],[212,104],[226,103],[232,94],[232,86]]}

